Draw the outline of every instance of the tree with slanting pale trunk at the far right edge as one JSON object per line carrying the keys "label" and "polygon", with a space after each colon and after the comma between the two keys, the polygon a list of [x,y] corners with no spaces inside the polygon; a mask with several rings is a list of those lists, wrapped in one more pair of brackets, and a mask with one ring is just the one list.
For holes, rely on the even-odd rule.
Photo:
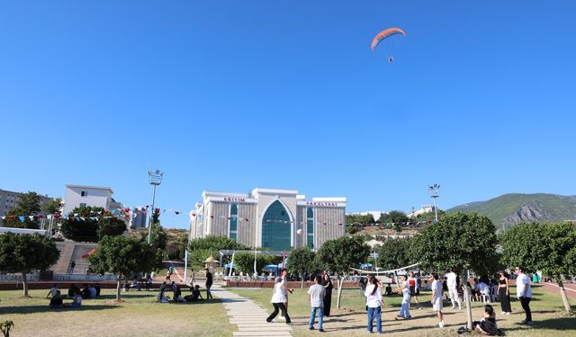
{"label": "tree with slanting pale trunk at the far right edge", "polygon": [[541,270],[558,282],[566,311],[571,306],[562,276],[576,275],[576,225],[523,223],[500,235],[502,262],[527,271]]}

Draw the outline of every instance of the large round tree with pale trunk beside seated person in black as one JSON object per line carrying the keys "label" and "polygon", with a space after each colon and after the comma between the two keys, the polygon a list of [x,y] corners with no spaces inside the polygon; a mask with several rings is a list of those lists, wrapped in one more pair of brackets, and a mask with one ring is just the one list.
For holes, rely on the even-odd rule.
{"label": "large round tree with pale trunk beside seated person in black", "polygon": [[[496,227],[488,217],[475,213],[447,215],[422,228],[413,240],[412,251],[425,270],[444,273],[454,268],[462,277],[464,270],[484,275],[494,273],[500,267]],[[464,279],[462,284],[465,284]],[[464,300],[468,328],[472,329],[472,308],[466,294],[467,291]]]}

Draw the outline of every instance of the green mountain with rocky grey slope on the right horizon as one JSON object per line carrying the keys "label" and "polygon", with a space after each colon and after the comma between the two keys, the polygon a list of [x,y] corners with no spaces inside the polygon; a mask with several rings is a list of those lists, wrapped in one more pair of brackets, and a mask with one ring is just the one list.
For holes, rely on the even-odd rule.
{"label": "green mountain with rocky grey slope on the right horizon", "polygon": [[487,201],[475,201],[446,213],[476,212],[490,217],[497,227],[520,222],[554,222],[576,219],[576,196],[510,193]]}

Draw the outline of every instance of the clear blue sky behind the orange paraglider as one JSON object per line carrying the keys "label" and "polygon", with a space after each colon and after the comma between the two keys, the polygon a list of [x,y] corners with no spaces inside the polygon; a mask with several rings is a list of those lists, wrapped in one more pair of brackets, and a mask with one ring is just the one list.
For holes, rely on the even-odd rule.
{"label": "clear blue sky behind the orange paraglider", "polygon": [[[202,191],[347,211],[576,194],[572,1],[0,3],[0,189],[109,186],[187,226]],[[370,49],[383,29],[385,49]],[[388,41],[384,41],[386,43]]]}

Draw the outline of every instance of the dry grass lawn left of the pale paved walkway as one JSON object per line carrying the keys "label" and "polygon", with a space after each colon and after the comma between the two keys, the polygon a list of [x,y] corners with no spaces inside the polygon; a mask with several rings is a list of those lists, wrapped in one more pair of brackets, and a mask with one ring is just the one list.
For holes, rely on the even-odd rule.
{"label": "dry grass lawn left of the pale paved walkway", "polygon": [[32,298],[24,299],[22,290],[0,291],[0,322],[14,321],[11,337],[231,336],[235,330],[218,299],[160,304],[157,292],[130,291],[116,304],[115,290],[103,289],[101,297],[85,299],[80,308],[49,309],[47,293],[31,290]]}

